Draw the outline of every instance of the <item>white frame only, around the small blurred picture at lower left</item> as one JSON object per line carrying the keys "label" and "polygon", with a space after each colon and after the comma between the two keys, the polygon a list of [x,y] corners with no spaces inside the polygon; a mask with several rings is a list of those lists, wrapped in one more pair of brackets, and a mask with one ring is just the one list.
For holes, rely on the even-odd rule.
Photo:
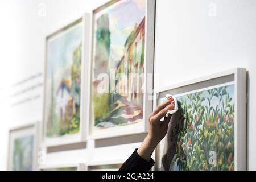
{"label": "white frame only, around the small blurred picture at lower left", "polygon": [[[40,142],[40,122],[32,122],[26,125],[13,127],[9,130],[9,146],[8,146],[8,159],[7,159],[7,170],[13,170],[13,142],[15,139],[20,137],[33,136],[33,146],[32,146],[32,171],[38,169],[38,152],[39,152],[39,142]],[[21,169],[22,171],[24,169]]]}

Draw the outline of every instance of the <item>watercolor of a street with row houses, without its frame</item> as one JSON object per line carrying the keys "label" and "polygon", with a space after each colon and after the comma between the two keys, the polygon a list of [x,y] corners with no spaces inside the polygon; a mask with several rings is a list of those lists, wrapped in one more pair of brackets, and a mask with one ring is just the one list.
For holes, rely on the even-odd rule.
{"label": "watercolor of a street with row houses, without its frame", "polygon": [[[93,17],[94,130],[143,121],[146,0],[110,3],[114,4],[96,10]],[[102,74],[109,78],[104,93],[98,91]]]}

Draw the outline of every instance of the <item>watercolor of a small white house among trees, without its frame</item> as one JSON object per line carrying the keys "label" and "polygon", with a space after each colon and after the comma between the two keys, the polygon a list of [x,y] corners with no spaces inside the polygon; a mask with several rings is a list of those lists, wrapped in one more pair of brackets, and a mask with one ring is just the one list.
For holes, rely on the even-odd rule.
{"label": "watercolor of a small white house among trees, without its frame", "polygon": [[82,22],[47,39],[45,135],[76,134],[80,130]]}

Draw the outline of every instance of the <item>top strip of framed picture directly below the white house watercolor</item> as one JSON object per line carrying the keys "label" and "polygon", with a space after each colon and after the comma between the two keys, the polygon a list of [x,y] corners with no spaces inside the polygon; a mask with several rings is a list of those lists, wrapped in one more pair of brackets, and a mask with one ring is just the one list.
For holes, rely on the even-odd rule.
{"label": "top strip of framed picture directly below the white house watercolor", "polygon": [[39,171],[86,171],[86,164],[61,164],[40,166]]}

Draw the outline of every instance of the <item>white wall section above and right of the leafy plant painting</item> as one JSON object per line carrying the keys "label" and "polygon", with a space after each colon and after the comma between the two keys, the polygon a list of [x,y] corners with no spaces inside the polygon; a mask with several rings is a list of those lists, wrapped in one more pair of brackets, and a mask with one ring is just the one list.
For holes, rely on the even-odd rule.
{"label": "white wall section above and right of the leafy plant painting", "polygon": [[156,7],[159,86],[234,67],[248,69],[247,159],[255,170],[256,1],[160,0]]}

